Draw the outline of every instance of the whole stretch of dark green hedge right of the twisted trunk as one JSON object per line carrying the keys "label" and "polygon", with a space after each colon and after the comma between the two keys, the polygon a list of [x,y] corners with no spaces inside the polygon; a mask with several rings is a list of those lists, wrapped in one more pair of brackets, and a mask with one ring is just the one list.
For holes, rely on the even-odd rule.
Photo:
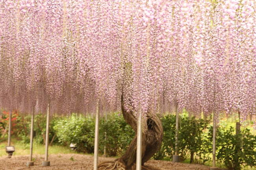
{"label": "whole stretch of dark green hedge right of the twisted trunk", "polygon": [[[154,159],[171,159],[175,148],[176,116],[163,116],[163,142]],[[209,120],[195,119],[185,115],[179,119],[179,155],[190,163],[206,164],[211,161],[212,131]],[[216,136],[217,162],[229,170],[241,170],[245,166],[256,166],[256,136],[249,129],[239,135],[230,127],[218,127]]]}

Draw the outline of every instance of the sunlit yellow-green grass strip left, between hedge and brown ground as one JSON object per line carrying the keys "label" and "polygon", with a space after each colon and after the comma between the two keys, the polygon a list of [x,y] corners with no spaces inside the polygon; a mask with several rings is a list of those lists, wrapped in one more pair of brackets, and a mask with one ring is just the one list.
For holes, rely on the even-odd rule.
{"label": "sunlit yellow-green grass strip left, between hedge and brown ground", "polygon": [[[6,153],[7,141],[0,143],[0,157],[7,156]],[[24,144],[18,140],[13,139],[11,146],[15,147],[15,152],[13,155],[29,155],[30,154],[30,144]],[[59,154],[59,153],[77,153],[72,151],[70,148],[65,146],[53,145],[49,146],[49,154]],[[43,155],[45,154],[45,145],[37,144],[33,142],[33,154]]]}

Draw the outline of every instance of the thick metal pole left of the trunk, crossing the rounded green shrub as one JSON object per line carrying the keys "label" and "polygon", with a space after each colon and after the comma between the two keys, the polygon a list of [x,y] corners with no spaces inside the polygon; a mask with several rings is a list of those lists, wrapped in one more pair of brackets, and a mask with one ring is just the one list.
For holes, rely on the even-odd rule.
{"label": "thick metal pole left of the trunk, crossing the rounded green shrub", "polygon": [[99,144],[98,133],[99,133],[99,102],[97,103],[96,119],[95,119],[95,140],[94,140],[93,170],[98,170],[98,144]]}

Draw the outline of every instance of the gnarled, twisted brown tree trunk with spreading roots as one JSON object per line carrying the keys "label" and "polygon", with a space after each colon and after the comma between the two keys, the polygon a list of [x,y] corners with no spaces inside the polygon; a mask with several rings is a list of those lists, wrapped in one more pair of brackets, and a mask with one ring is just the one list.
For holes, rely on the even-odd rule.
{"label": "gnarled, twisted brown tree trunk with spreading roots", "polygon": [[[124,109],[123,98],[121,98],[121,106],[122,106],[122,115],[126,120],[126,123],[132,126],[134,131],[137,133],[137,118],[134,116],[132,111],[126,111]],[[148,112],[147,113],[147,127],[145,127],[142,133],[142,165],[147,162],[161,147],[161,142],[163,139],[163,126],[160,118]],[[104,167],[102,169],[113,169],[113,170],[135,170],[136,168],[136,149],[137,149],[137,134],[134,139],[130,143],[128,149],[120,157],[115,161],[111,162],[103,162],[99,165],[99,167]],[[142,169],[150,170],[157,168],[150,168],[143,166]]]}

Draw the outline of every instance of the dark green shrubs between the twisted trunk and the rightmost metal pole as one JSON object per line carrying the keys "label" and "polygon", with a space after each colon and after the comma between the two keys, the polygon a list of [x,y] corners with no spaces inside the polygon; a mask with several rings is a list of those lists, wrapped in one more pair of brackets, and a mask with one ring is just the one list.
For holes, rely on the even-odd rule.
{"label": "dark green shrubs between the twisted trunk and the rightmost metal pole", "polygon": [[[190,153],[191,162],[205,163],[208,161],[211,143],[206,140],[207,135],[203,132],[207,129],[209,120],[181,115],[179,123],[178,153],[181,160],[187,159],[187,155]],[[153,156],[154,159],[171,158],[175,152],[176,115],[163,116],[162,124],[163,144],[160,151]]]}

